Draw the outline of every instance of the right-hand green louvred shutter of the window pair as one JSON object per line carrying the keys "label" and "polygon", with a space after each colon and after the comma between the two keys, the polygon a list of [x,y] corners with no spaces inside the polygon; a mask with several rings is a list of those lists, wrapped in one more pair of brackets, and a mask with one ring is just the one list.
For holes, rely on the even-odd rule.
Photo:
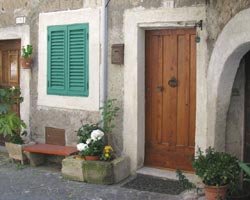
{"label": "right-hand green louvred shutter of the window pair", "polygon": [[68,26],[68,95],[88,96],[88,24]]}

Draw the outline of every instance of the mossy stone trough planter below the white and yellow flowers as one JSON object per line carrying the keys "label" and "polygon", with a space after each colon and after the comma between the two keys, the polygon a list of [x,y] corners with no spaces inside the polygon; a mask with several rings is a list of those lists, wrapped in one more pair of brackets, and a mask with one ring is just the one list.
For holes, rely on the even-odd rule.
{"label": "mossy stone trough planter below the white and yellow flowers", "polygon": [[112,161],[86,161],[74,156],[62,161],[62,176],[69,180],[95,184],[118,183],[130,175],[128,157],[118,157]]}

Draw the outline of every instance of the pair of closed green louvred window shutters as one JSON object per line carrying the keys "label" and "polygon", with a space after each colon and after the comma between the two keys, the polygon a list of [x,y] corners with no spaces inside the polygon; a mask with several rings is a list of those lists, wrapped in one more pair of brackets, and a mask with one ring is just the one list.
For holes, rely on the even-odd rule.
{"label": "pair of closed green louvred window shutters", "polygon": [[48,27],[47,93],[88,96],[88,24]]}

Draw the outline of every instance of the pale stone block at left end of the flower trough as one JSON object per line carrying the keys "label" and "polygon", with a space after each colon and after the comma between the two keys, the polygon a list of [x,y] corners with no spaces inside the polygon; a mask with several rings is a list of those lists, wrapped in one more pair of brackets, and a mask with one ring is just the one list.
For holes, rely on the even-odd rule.
{"label": "pale stone block at left end of the flower trough", "polygon": [[73,181],[84,181],[83,159],[75,159],[74,156],[66,157],[62,160],[63,178]]}

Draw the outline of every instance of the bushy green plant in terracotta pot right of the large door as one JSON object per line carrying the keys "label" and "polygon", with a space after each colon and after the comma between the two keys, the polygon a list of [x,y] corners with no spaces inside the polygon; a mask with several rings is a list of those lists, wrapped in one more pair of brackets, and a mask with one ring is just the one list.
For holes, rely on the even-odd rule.
{"label": "bushy green plant in terracotta pot right of the large door", "polygon": [[239,177],[238,159],[225,152],[217,152],[209,147],[202,152],[200,148],[192,161],[195,174],[204,183],[207,200],[224,200],[227,188]]}

